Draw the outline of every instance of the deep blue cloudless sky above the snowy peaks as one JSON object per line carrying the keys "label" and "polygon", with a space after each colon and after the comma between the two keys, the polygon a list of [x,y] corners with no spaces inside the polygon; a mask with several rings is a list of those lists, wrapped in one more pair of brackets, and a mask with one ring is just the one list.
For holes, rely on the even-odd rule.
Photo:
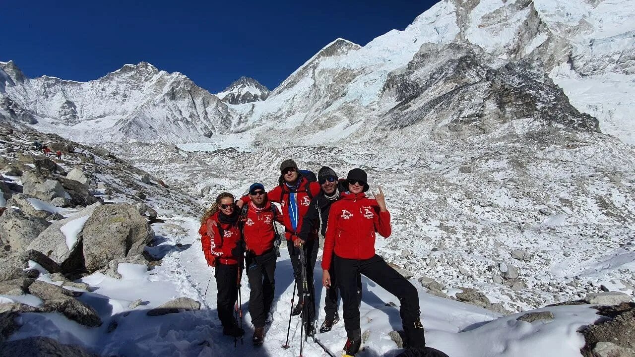
{"label": "deep blue cloudless sky above the snowy peaks", "polygon": [[240,76],[273,89],[337,37],[403,30],[436,0],[3,1],[0,61],[90,81],[146,61],[212,93]]}

